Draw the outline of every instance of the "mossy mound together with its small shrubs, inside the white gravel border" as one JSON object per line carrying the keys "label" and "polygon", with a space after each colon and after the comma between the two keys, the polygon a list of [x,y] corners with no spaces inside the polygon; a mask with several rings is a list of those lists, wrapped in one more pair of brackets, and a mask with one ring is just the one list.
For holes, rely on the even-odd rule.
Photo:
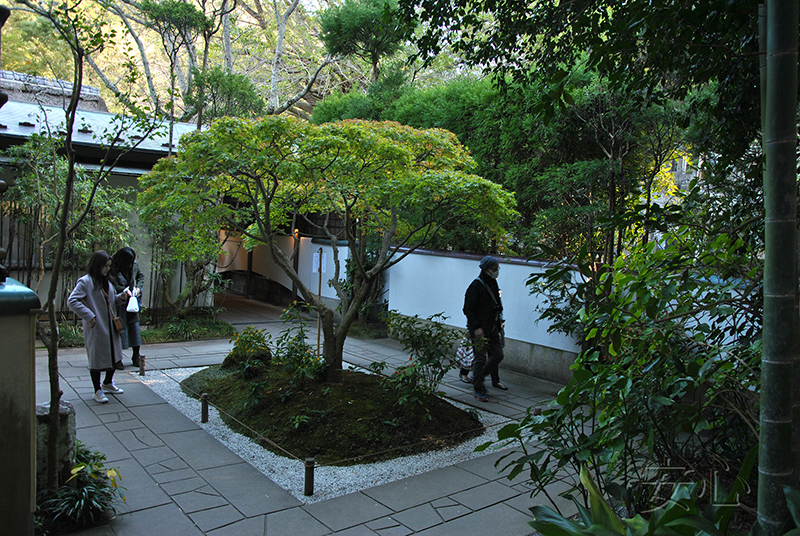
{"label": "mossy mound together with its small shrubs, inside the white gravel border", "polygon": [[377,374],[386,365],[376,363],[373,373],[346,371],[326,381],[324,359],[309,344],[299,310],[290,307],[283,319],[286,327],[274,343],[255,328],[234,336],[223,363],[185,379],[184,392],[196,398],[208,393],[232,430],[276,454],[321,464],[378,462],[484,432],[474,413],[438,396],[435,384],[417,373],[430,367],[430,356],[424,363],[412,357],[389,376]]}

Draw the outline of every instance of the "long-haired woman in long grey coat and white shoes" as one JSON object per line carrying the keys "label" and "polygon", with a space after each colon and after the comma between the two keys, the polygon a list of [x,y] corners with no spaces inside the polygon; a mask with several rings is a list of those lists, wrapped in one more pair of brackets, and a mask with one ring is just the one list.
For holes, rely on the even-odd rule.
{"label": "long-haired woman in long grey coat and white shoes", "polygon": [[[105,393],[122,394],[122,389],[114,385],[114,364],[122,361],[120,335],[114,329],[116,305],[126,302],[130,292],[120,293],[108,280],[111,256],[105,251],[96,251],[89,260],[87,274],[78,279],[78,284],[70,293],[67,305],[83,320],[83,340],[89,357],[89,374],[94,386],[92,399],[100,404],[108,402]],[[105,371],[103,386],[100,386],[100,373]]]}

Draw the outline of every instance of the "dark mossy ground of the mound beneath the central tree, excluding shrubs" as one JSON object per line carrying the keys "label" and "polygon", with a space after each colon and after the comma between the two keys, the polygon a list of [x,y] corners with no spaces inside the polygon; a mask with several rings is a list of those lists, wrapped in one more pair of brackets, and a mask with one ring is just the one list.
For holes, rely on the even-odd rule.
{"label": "dark mossy ground of the mound beneath the central tree, excluding shrubs", "polygon": [[473,414],[433,395],[426,401],[431,419],[408,414],[380,376],[351,372],[337,383],[306,381],[294,390],[289,380],[275,365],[247,380],[236,371],[209,367],[182,386],[190,396],[208,393],[236,432],[276,454],[285,455],[272,443],[317,463],[372,463],[454,446],[483,433]]}

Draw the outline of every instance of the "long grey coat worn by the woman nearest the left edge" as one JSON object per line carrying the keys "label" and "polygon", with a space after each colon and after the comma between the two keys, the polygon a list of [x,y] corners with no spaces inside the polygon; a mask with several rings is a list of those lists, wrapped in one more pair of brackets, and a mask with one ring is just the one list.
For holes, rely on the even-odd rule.
{"label": "long grey coat worn by the woman nearest the left edge", "polygon": [[[92,276],[85,275],[78,279],[78,284],[69,295],[67,305],[83,320],[83,340],[86,343],[86,354],[89,356],[89,368],[107,370],[115,361],[122,361],[122,343],[119,333],[114,329],[111,319],[114,305],[125,301],[125,291],[116,294],[109,283],[106,292],[94,284]],[[111,301],[113,300],[113,304]],[[96,318],[94,327],[89,321]]]}

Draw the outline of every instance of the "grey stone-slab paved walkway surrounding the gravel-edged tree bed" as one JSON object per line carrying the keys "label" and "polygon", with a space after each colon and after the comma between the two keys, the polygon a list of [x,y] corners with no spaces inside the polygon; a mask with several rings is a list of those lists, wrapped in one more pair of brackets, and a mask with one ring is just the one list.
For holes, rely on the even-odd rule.
{"label": "grey stone-slab paved walkway surrounding the gravel-edged tree bed", "polygon": [[[218,305],[223,318],[239,330],[252,325],[279,333],[280,309],[235,295]],[[310,330],[312,337],[316,336]],[[231,348],[225,340],[154,344],[143,347],[148,368],[217,364]],[[130,355],[126,351],[126,355]],[[348,340],[345,361],[390,366],[408,359],[394,340]],[[164,536],[524,536],[533,530],[528,508],[535,504],[522,478],[498,474],[491,453],[454,466],[365,489],[334,499],[304,504],[234,455],[140,382],[125,360],[114,379],[125,390],[108,404],[91,401],[92,387],[83,349],[59,352],[64,399],[76,411],[78,438],[105,453],[117,467],[126,501],[107,526],[82,535]],[[442,389],[455,400],[512,419],[552,397],[557,385],[501,370],[508,391],[489,390],[480,403],[457,373]],[[36,352],[37,401],[47,401],[47,357]],[[199,419],[199,416],[198,416]],[[298,470],[302,470],[298,467]],[[539,501],[536,501],[539,502]]]}

